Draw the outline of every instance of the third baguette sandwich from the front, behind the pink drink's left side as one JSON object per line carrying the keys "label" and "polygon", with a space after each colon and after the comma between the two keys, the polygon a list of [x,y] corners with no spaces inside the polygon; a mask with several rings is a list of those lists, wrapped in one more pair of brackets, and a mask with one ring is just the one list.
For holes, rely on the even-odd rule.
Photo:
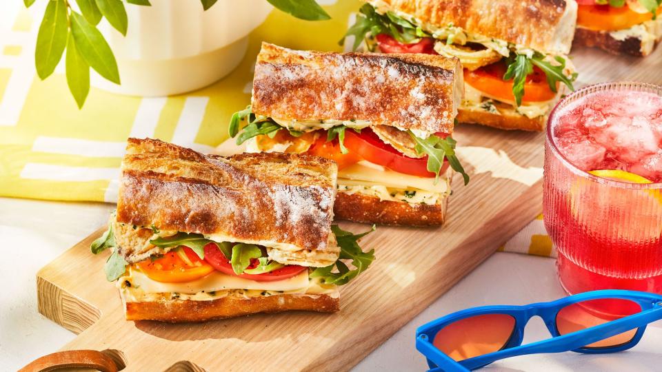
{"label": "third baguette sandwich from the front, behind the pink drink's left side", "polygon": [[354,50],[457,57],[460,123],[541,131],[576,79],[567,56],[576,8],[565,0],[371,0],[345,38],[354,37]]}

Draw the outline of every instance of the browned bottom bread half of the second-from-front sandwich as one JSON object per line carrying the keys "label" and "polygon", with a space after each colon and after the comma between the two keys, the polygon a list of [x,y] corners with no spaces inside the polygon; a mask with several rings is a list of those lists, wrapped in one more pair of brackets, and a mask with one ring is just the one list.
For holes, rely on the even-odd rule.
{"label": "browned bottom bread half of the second-from-front sandwich", "polygon": [[404,201],[381,200],[365,194],[336,194],[334,218],[379,225],[435,226],[443,225],[448,197],[434,205],[411,204]]}

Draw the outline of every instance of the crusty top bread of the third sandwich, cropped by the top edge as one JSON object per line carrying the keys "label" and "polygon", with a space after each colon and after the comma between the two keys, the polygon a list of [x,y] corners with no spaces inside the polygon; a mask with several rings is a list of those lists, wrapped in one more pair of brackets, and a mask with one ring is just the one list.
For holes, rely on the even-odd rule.
{"label": "crusty top bread of the third sandwich, cropped by the top edge", "polygon": [[[408,14],[435,28],[449,24],[471,34],[568,54],[577,19],[573,0],[370,0],[379,11]],[[421,25],[425,28],[425,25]]]}

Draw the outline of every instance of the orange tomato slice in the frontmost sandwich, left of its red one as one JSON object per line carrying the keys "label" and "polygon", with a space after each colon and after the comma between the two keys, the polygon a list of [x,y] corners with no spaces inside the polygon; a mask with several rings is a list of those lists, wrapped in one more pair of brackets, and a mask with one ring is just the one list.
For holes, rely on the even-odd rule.
{"label": "orange tomato slice in the frontmost sandwich, left of its red one", "polygon": [[180,253],[169,251],[156,260],[148,258],[138,262],[137,266],[150,279],[166,283],[192,282],[214,271],[212,265],[201,260],[189,247],[178,249],[181,249]]}

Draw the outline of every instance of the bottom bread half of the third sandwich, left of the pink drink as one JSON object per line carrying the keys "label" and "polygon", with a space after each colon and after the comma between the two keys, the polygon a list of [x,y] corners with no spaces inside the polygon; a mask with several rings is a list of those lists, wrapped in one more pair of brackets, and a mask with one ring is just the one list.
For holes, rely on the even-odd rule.
{"label": "bottom bread half of the third sandwich, left of the pink drink", "polygon": [[480,107],[462,105],[457,114],[458,123],[480,124],[488,127],[495,127],[501,130],[528,130],[532,132],[541,132],[545,128],[547,115],[529,118],[517,112],[512,105],[500,104],[498,112],[489,112]]}

